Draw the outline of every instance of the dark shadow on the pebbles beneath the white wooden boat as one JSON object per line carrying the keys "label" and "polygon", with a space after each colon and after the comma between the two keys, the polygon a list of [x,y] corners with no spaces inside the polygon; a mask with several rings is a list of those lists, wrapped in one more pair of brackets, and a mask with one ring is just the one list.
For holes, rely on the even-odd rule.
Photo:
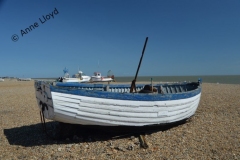
{"label": "dark shadow on the pebbles beneath the white wooden boat", "polygon": [[139,136],[140,134],[144,135],[165,131],[182,125],[185,122],[184,120],[168,125],[147,127],[102,127],[47,122],[47,134],[43,131],[41,123],[4,129],[4,134],[10,145],[32,147],[39,145],[73,144],[130,138],[131,136]]}

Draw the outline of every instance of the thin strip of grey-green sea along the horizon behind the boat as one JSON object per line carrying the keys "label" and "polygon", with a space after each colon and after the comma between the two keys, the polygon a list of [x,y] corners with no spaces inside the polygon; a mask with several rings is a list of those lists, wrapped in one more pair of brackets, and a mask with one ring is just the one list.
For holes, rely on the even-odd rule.
{"label": "thin strip of grey-green sea along the horizon behind the boat", "polygon": [[[197,82],[201,78],[203,83],[217,83],[217,84],[240,84],[240,75],[204,75],[204,76],[139,76],[137,82]],[[32,78],[38,80],[55,80],[57,78]],[[117,77],[116,82],[131,82],[134,76]]]}

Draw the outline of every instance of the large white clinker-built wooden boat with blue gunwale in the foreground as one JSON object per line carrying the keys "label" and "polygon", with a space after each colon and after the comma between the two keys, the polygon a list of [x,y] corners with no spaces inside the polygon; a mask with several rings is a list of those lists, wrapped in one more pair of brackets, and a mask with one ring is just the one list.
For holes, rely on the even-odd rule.
{"label": "large white clinker-built wooden boat with blue gunwale in the foreground", "polygon": [[[81,125],[149,126],[193,116],[201,96],[201,81],[130,85],[35,81],[37,103],[47,119]],[[151,88],[151,87],[150,87]]]}

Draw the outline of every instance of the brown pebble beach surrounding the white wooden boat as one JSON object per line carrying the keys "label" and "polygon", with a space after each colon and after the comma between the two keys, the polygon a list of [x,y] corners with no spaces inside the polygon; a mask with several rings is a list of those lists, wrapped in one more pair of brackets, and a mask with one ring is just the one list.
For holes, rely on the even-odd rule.
{"label": "brown pebble beach surrounding the white wooden boat", "polygon": [[[46,121],[51,134],[57,122]],[[203,83],[198,109],[185,123],[137,134],[85,130],[61,139],[42,129],[34,81],[0,82],[0,160],[240,159],[240,85]]]}

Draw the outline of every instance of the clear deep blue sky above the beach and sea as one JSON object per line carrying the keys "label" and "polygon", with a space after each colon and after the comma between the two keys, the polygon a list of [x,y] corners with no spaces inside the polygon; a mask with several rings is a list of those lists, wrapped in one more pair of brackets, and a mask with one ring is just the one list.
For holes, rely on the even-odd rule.
{"label": "clear deep blue sky above the beach and sea", "polygon": [[239,0],[0,0],[0,77],[240,75]]}

